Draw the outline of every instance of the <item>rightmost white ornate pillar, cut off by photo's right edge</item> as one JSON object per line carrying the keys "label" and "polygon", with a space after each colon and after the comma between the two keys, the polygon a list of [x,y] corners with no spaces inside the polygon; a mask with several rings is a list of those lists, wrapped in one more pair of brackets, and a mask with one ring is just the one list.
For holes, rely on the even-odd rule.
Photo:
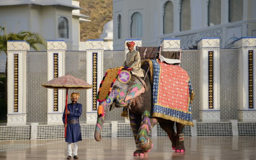
{"label": "rightmost white ornate pillar, cut off by photo's right edge", "polygon": [[256,122],[256,37],[242,37],[234,42],[238,48],[238,120]]}

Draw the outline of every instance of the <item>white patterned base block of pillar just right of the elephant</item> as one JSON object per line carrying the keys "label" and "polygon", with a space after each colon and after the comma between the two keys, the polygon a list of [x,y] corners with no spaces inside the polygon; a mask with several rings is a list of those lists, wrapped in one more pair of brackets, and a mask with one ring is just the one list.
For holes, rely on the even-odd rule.
{"label": "white patterned base block of pillar just right of the elephant", "polygon": [[216,110],[216,111],[200,110],[199,118],[203,122],[220,122],[220,110]]}

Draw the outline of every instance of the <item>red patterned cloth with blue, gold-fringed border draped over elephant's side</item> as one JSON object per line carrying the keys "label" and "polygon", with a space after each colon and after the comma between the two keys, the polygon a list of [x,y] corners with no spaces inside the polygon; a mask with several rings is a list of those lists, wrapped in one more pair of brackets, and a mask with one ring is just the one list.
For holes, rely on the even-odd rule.
{"label": "red patterned cloth with blue, gold-fringed border draped over elephant's side", "polygon": [[152,60],[153,114],[181,124],[194,126],[191,102],[194,96],[187,72],[178,65]]}

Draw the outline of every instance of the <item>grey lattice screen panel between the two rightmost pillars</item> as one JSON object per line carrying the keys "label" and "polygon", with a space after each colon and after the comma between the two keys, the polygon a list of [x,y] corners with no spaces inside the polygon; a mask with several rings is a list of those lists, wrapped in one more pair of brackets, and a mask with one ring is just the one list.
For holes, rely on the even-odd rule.
{"label": "grey lattice screen panel between the two rightmost pillars", "polygon": [[220,50],[220,119],[238,119],[238,50]]}

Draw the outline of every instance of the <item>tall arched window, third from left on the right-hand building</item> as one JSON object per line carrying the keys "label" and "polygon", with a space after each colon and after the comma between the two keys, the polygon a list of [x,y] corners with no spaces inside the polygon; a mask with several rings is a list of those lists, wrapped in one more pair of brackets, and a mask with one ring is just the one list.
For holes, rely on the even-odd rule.
{"label": "tall arched window, third from left on the right-hand building", "polygon": [[168,1],[164,6],[164,34],[173,32],[173,4]]}

